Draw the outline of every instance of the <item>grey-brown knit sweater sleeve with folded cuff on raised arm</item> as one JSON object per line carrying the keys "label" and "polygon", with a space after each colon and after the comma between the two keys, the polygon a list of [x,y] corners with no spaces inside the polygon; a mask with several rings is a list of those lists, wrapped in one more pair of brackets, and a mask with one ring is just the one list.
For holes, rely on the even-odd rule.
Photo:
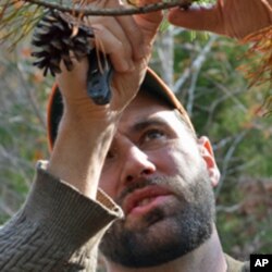
{"label": "grey-brown knit sweater sleeve with folded cuff on raised arm", "polygon": [[91,200],[39,165],[26,202],[0,228],[0,271],[96,271],[99,240],[120,217],[102,191]]}

